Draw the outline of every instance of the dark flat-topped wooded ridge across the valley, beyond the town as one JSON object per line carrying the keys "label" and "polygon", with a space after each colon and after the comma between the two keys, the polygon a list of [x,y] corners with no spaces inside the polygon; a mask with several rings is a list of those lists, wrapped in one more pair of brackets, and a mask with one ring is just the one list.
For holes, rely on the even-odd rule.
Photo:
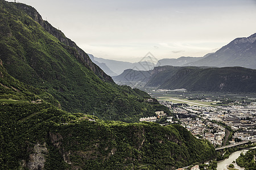
{"label": "dark flat-topped wooded ridge across the valley, beyond the town", "polygon": [[[156,71],[160,70],[160,71]],[[256,92],[256,70],[243,67],[155,67],[146,86],[188,91]]]}

